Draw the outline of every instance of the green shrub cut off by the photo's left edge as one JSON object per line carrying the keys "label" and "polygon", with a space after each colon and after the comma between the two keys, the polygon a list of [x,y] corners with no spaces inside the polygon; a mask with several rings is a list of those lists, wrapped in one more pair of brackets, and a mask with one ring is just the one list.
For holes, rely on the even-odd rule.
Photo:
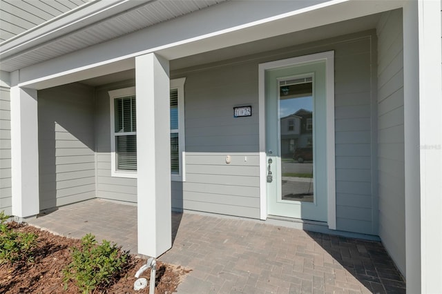
{"label": "green shrub cut off by the photo's left edge", "polygon": [[37,247],[37,235],[19,233],[8,226],[8,215],[0,212],[0,264],[10,262],[32,262]]}

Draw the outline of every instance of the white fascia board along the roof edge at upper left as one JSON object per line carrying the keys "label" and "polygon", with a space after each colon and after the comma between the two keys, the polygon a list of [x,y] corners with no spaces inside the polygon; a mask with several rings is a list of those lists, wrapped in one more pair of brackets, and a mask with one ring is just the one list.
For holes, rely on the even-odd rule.
{"label": "white fascia board along the roof edge at upper left", "polygon": [[[142,5],[146,3],[142,3]],[[4,60],[24,50],[41,46],[52,39],[75,32],[137,6],[140,6],[139,1],[129,0],[95,0],[85,3],[4,41],[0,45],[0,59]]]}

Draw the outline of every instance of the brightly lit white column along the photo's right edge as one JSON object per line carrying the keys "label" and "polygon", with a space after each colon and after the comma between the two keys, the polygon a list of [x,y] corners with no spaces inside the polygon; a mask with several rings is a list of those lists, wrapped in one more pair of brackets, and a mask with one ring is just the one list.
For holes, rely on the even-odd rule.
{"label": "brightly lit white column along the photo's right edge", "polygon": [[421,293],[442,293],[441,1],[419,1]]}

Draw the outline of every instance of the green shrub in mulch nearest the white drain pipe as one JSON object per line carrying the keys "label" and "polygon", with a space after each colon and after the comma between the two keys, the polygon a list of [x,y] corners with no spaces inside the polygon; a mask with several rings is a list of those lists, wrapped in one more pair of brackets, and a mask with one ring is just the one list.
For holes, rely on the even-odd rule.
{"label": "green shrub in mulch nearest the white drain pipe", "polygon": [[119,247],[106,240],[97,245],[91,234],[81,238],[80,248],[71,248],[71,255],[73,261],[63,270],[65,290],[72,280],[83,293],[110,284],[128,262]]}

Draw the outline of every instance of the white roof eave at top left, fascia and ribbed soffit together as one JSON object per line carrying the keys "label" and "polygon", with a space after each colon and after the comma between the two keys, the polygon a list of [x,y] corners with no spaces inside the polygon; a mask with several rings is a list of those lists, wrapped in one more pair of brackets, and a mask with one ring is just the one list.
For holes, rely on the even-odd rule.
{"label": "white roof eave at top left, fascia and ribbed soffit together", "polygon": [[97,0],[3,41],[1,70],[19,70],[223,1]]}

